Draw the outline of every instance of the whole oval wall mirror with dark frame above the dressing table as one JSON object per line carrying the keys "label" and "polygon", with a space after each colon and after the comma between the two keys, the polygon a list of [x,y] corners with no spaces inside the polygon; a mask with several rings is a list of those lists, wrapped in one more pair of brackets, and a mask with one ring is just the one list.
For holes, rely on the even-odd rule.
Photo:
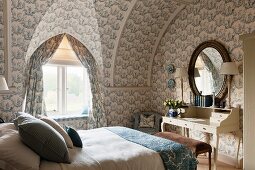
{"label": "whole oval wall mirror with dark frame above the dressing table", "polygon": [[220,75],[223,62],[230,61],[225,47],[217,41],[200,44],[189,63],[189,83],[195,95],[211,95],[215,92],[217,101],[227,94],[227,77]]}

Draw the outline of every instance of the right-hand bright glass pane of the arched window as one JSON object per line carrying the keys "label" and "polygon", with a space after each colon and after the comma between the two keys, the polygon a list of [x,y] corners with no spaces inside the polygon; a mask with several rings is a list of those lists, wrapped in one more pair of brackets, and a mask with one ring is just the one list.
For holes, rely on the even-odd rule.
{"label": "right-hand bright glass pane of the arched window", "polygon": [[83,67],[67,67],[67,114],[88,114],[90,93],[87,71]]}

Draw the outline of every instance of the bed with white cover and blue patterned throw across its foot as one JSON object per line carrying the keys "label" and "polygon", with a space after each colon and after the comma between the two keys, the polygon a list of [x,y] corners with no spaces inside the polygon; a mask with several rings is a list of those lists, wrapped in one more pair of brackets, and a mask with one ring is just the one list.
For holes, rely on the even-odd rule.
{"label": "bed with white cover and blue patterned throw across its foot", "polygon": [[[11,131],[9,130],[9,132],[13,133],[15,131],[17,130],[15,130],[13,127]],[[4,134],[3,130],[1,129],[0,126],[0,148],[1,137],[3,137],[3,134]],[[139,132],[137,130],[125,127],[105,127],[92,130],[80,130],[78,131],[78,134],[81,138],[83,148],[78,147],[68,148],[71,163],[56,163],[52,161],[43,160],[40,158],[39,160],[38,159],[32,160],[32,158],[30,159],[28,156],[27,158],[29,159],[28,161],[30,162],[39,161],[38,163],[39,166],[36,167],[37,165],[35,165],[34,167],[31,166],[30,168],[26,169],[31,170],[37,168],[40,170],[196,169],[197,161],[192,152],[185,146],[170,140],[166,140],[160,137]],[[15,146],[18,145],[15,144]],[[0,149],[0,152],[6,152],[6,150],[3,151],[2,149]],[[9,149],[18,150],[15,148]],[[24,153],[25,152],[23,151],[21,155],[24,155]],[[15,159],[13,158],[13,160]],[[22,161],[26,162],[26,160]],[[4,161],[1,160],[0,154],[0,169],[22,169],[22,168],[8,166],[8,163],[6,162],[4,163]]]}

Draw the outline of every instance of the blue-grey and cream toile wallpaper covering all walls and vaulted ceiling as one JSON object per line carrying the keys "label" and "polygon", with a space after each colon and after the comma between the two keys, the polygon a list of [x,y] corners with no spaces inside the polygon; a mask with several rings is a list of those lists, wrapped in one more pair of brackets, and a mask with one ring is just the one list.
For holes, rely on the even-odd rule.
{"label": "blue-grey and cream toile wallpaper covering all walls and vaulted ceiling", "polygon": [[[194,49],[207,40],[217,40],[234,61],[242,63],[239,35],[255,30],[253,0],[11,0],[11,54],[9,85],[14,94],[0,95],[0,116],[12,120],[21,111],[25,61],[50,37],[68,33],[82,42],[99,65],[104,109],[109,126],[131,126],[137,111],[166,112],[163,100],[180,98],[180,83],[169,89],[173,75],[168,64],[187,67]],[[2,45],[3,0],[0,0],[0,73],[4,61]],[[242,64],[231,89],[233,106],[243,107]],[[188,80],[184,99],[189,101]],[[240,116],[242,122],[242,114]],[[86,129],[83,119],[61,120]],[[242,128],[242,126],[241,126]],[[195,137],[202,135],[194,133]],[[234,157],[237,138],[224,134],[220,153]],[[240,153],[242,156],[242,152]]]}

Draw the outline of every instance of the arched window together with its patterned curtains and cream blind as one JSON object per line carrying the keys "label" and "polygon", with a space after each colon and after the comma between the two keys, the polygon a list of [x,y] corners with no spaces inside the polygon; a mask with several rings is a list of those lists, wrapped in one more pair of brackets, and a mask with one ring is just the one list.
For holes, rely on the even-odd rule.
{"label": "arched window together with its patterned curtains and cream blind", "polygon": [[[65,36],[66,38],[63,40]],[[62,40],[69,41],[70,44],[67,44],[73,51],[68,50],[69,47],[64,50],[58,48],[62,47],[60,45]],[[61,51],[65,52],[58,56],[57,54],[61,54]],[[74,56],[67,55],[69,57],[66,58],[68,53],[73,53]],[[26,61],[24,111],[32,115],[51,114],[52,111],[52,114],[55,112],[59,117],[60,114],[68,113],[81,115],[86,113],[87,106],[87,112],[91,113],[88,117],[88,128],[106,126],[107,120],[98,74],[98,66],[94,57],[80,41],[69,34],[56,35],[42,43]],[[54,83],[47,84],[47,79],[52,79],[49,81]],[[44,83],[44,81],[46,82]],[[86,83],[88,81],[90,83]],[[78,87],[81,88],[77,90]],[[44,92],[44,90],[48,91]],[[52,95],[48,97],[49,90],[52,91]],[[44,107],[44,97],[46,98],[46,108]],[[49,100],[54,98],[55,106],[53,106],[54,101],[51,102],[51,106]],[[78,103],[80,103],[79,106],[77,106]],[[48,110],[48,113],[45,110]]]}

